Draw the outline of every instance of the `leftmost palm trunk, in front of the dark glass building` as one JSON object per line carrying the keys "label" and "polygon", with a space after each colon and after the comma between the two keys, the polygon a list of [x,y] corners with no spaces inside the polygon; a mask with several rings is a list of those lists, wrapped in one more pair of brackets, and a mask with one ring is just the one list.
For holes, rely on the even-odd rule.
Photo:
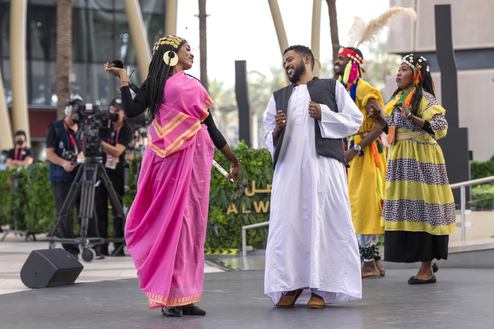
{"label": "leftmost palm trunk, in front of the dark glass building", "polygon": [[69,74],[72,71],[72,1],[57,0],[57,119],[62,119],[69,96]]}

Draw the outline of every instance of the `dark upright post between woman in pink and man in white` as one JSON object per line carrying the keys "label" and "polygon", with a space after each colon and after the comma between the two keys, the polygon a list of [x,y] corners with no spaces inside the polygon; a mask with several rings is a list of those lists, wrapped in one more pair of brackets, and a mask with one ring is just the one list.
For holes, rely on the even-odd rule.
{"label": "dark upright post between woman in pink and man in white", "polygon": [[247,91],[247,61],[235,61],[235,94],[239,107],[239,140],[250,141],[250,103]]}

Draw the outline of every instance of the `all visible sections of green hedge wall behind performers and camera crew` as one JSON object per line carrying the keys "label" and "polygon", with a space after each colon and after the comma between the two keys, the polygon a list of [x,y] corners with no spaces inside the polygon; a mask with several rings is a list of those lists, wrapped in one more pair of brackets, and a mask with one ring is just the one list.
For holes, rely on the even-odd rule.
{"label": "all visible sections of green hedge wall behind performers and camera crew", "polygon": [[[256,193],[248,197],[245,189],[251,191],[251,182],[256,189],[266,189],[272,184],[273,162],[265,149],[253,150],[243,142],[233,148],[242,159],[240,178],[236,183],[228,182],[216,169],[211,168],[211,187],[209,194],[209,214],[206,231],[206,249],[241,248],[244,225],[269,220],[270,193]],[[124,208],[129,208],[137,190],[137,178],[142,157],[135,157],[130,163],[129,192],[124,196]],[[214,160],[226,170],[230,163],[215,150]],[[472,161],[472,179],[494,175],[494,157],[486,162]],[[14,186],[14,175],[17,184]],[[474,208],[494,208],[494,185],[472,186],[472,200],[480,200]],[[261,207],[264,203],[264,209]],[[233,206],[232,206],[233,204]],[[234,209],[237,211],[227,210]],[[243,211],[244,210],[244,211]],[[256,212],[259,210],[259,212]],[[264,210],[267,210],[264,212]],[[17,227],[30,233],[50,232],[56,221],[56,210],[48,181],[48,164],[37,163],[16,170],[0,171],[0,224],[13,227],[14,218]],[[111,211],[109,211],[109,235],[113,235]],[[74,217],[74,231],[79,231],[77,217]],[[247,231],[247,244],[265,247],[267,227]]]}

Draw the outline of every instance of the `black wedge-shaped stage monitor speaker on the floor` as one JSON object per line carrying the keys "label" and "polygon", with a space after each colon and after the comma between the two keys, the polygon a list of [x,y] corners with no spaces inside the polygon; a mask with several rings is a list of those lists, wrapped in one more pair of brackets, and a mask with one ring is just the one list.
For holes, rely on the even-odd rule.
{"label": "black wedge-shaped stage monitor speaker on the floor", "polygon": [[21,281],[28,288],[72,285],[84,266],[61,248],[33,250],[21,269]]}

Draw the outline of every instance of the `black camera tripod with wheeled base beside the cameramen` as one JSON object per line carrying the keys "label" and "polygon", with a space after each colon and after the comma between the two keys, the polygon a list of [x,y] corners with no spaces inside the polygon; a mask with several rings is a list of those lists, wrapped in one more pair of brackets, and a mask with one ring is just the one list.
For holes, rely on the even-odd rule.
{"label": "black camera tripod with wheeled base beside the cameramen", "polygon": [[[55,243],[62,244],[77,244],[81,246],[82,249],[82,259],[86,262],[90,262],[96,256],[96,251],[93,247],[97,245],[102,245],[105,243],[121,243],[120,247],[116,248],[111,254],[116,255],[122,250],[125,244],[124,238],[114,238],[114,239],[104,239],[99,237],[87,237],[87,228],[89,225],[89,219],[94,218],[94,225],[96,225],[96,231],[98,228],[98,219],[96,216],[96,209],[94,207],[94,193],[97,183],[98,176],[101,177],[102,183],[108,191],[110,200],[114,207],[116,207],[117,215],[124,218],[124,209],[119,202],[119,197],[117,192],[106,173],[106,170],[101,164],[102,158],[97,156],[87,157],[83,164],[80,164],[77,171],[77,175],[74,178],[69,194],[65,198],[62,208],[58,213],[58,219],[51,231],[51,237],[48,239],[49,248],[55,247]],[[70,209],[73,209],[74,202],[76,201],[77,195],[81,192],[81,206],[79,211],[79,218],[81,219],[81,234],[79,238],[57,238],[55,234],[57,233],[58,226],[65,216],[72,220],[72,213]]]}

